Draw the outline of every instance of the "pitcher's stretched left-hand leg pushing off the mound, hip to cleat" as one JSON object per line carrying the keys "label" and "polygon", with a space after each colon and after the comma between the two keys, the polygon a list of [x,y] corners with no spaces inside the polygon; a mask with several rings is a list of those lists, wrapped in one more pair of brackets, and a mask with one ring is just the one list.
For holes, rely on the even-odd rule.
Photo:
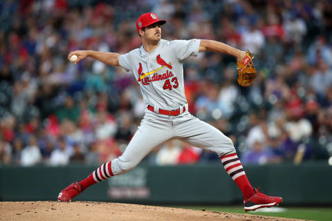
{"label": "pitcher's stretched left-hand leg pushing off the mound, hip to cleat", "polygon": [[158,119],[150,122],[143,119],[138,131],[120,157],[102,164],[84,180],[67,186],[59,193],[58,200],[71,201],[87,187],[113,175],[126,173],[133,169],[155,146],[166,142],[172,135],[172,122]]}

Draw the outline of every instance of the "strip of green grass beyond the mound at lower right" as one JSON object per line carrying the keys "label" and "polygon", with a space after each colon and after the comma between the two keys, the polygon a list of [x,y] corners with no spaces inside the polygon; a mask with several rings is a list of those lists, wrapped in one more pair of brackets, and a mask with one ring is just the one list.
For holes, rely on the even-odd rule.
{"label": "strip of green grass beyond the mound at lower right", "polygon": [[[246,213],[243,207],[240,206],[180,206],[184,209],[196,209],[196,210],[210,210],[225,213]],[[277,216],[283,218],[296,218],[304,220],[320,220],[331,221],[332,220],[332,208],[330,207],[283,207],[286,209],[284,212],[248,212],[252,215],[266,215]]]}

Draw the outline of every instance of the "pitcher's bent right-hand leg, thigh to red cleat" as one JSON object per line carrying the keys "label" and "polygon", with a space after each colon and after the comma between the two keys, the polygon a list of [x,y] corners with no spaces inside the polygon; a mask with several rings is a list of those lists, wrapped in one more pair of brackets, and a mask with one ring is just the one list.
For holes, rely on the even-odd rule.
{"label": "pitcher's bent right-hand leg, thigh to red cleat", "polygon": [[239,157],[237,157],[232,141],[210,124],[188,114],[184,119],[176,120],[174,132],[176,136],[182,138],[181,140],[193,146],[214,151],[219,155],[225,171],[243,193],[245,211],[276,206],[282,202],[280,197],[271,197],[252,188]]}

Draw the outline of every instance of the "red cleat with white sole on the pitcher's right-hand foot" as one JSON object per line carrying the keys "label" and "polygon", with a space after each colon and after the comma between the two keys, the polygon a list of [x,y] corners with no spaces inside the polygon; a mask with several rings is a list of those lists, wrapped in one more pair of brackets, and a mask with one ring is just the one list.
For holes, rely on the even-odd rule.
{"label": "red cleat with white sole on the pitcher's right-hand foot", "polygon": [[243,197],[244,210],[246,212],[264,207],[277,206],[280,202],[282,202],[282,198],[259,193],[258,189],[255,189],[255,194],[251,198],[247,199]]}

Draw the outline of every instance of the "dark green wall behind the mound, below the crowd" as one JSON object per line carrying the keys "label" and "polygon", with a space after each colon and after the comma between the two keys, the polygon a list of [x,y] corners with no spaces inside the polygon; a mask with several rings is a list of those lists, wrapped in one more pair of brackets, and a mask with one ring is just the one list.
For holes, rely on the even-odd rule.
{"label": "dark green wall behind the mound, below the crowd", "polygon": [[[59,191],[86,177],[95,166],[0,167],[0,200],[57,200]],[[306,163],[246,166],[253,186],[268,195],[279,195],[284,204],[332,205],[332,166]],[[74,200],[139,204],[241,203],[241,191],[221,164],[188,166],[140,165],[124,175],[111,177]]]}

